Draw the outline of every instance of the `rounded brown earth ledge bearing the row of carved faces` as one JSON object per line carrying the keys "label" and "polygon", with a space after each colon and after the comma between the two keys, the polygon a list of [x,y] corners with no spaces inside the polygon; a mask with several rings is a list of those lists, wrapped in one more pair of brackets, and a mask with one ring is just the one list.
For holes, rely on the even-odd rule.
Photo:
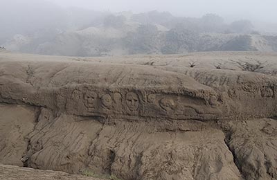
{"label": "rounded brown earth ledge bearing the row of carved faces", "polygon": [[[217,120],[276,115],[276,78],[267,75],[227,71],[224,84],[218,87],[215,83],[222,77],[203,69],[161,71],[60,61],[56,63],[62,70],[57,70],[50,69],[53,62],[28,63],[3,62],[1,69],[7,72],[1,77],[1,102],[47,107],[55,113],[113,118]],[[13,66],[17,66],[17,76],[8,71]],[[128,72],[132,74],[127,77]],[[204,78],[207,75],[211,77],[208,80]],[[266,108],[260,108],[260,104]]]}

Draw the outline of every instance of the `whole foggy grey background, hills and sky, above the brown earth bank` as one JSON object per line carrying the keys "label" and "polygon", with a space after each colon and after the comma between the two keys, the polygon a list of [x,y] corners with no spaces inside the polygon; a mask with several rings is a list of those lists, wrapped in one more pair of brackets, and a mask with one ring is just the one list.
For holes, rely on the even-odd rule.
{"label": "whole foggy grey background, hills and sky, above the brown earth bank", "polygon": [[8,51],[73,56],[277,51],[274,0],[0,3],[0,47]]}

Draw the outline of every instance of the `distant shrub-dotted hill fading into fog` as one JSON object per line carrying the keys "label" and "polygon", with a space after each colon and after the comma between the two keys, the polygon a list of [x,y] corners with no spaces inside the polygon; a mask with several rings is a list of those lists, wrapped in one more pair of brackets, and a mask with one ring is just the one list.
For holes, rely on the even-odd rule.
{"label": "distant shrub-dotted hill fading into fog", "polygon": [[[16,34],[0,44],[42,55],[112,56],[196,51],[277,51],[277,36],[260,34],[250,21],[231,24],[217,15],[174,17],[169,12],[115,15],[71,10],[66,28]],[[95,15],[91,21],[86,15]],[[79,18],[78,18],[79,17]],[[84,21],[75,23],[86,17]]]}

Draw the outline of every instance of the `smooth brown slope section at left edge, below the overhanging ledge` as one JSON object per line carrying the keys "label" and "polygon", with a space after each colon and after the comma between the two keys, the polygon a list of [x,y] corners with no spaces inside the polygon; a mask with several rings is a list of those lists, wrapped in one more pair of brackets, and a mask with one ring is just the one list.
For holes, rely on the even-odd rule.
{"label": "smooth brown slope section at left edge, below the overhanging ledge", "polygon": [[28,134],[35,127],[35,109],[19,105],[0,105],[1,163],[22,165]]}

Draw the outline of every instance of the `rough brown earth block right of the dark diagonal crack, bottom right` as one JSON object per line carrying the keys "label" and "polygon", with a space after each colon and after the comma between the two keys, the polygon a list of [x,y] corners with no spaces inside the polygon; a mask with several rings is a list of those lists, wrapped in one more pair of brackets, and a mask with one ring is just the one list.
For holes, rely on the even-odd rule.
{"label": "rough brown earth block right of the dark diagonal crack, bottom right", "polygon": [[277,179],[277,121],[231,123],[227,143],[245,179]]}

